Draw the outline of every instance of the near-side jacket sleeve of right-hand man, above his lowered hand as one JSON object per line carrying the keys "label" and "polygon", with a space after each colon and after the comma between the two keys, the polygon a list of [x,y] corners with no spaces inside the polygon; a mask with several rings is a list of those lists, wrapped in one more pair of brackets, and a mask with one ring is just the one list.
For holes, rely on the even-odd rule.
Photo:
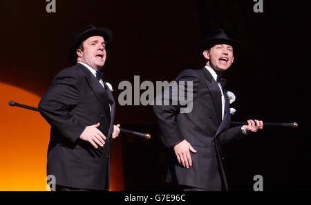
{"label": "near-side jacket sleeve of right-hand man, above his lowered hand", "polygon": [[[197,89],[196,72],[187,69],[178,75],[176,83],[170,83],[167,89],[156,96],[153,111],[158,118],[165,147],[173,147],[185,139],[178,129],[176,117],[180,112],[187,112],[189,111],[187,109],[191,109]],[[180,94],[185,94],[185,96],[180,96]],[[187,100],[180,100],[184,98]]]}

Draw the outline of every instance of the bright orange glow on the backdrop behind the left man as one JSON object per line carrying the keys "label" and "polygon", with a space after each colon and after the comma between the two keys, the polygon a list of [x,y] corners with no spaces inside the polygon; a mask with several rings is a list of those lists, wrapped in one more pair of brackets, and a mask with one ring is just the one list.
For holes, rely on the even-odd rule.
{"label": "bright orange glow on the backdrop behind the left man", "polygon": [[[37,111],[8,106],[9,100],[37,107],[40,97],[0,83],[0,191],[46,191],[50,126]],[[111,191],[123,191],[120,139],[115,140]]]}

